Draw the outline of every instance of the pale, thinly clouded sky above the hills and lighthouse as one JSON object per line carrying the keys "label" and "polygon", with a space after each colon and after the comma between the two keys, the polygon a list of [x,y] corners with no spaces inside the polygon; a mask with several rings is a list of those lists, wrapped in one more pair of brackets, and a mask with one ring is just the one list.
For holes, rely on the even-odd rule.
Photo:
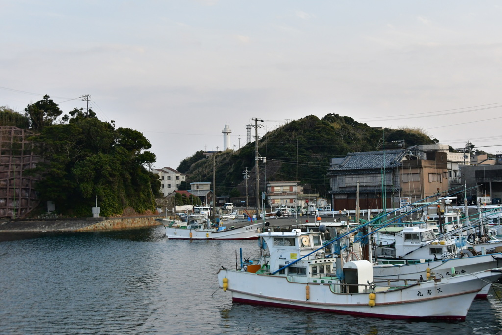
{"label": "pale, thinly clouded sky above the hills and lighthouse", "polygon": [[254,118],[263,136],[330,113],[497,153],[501,17],[483,0],[0,0],[0,106],[89,94],[157,168],[221,150],[225,124],[238,149]]}

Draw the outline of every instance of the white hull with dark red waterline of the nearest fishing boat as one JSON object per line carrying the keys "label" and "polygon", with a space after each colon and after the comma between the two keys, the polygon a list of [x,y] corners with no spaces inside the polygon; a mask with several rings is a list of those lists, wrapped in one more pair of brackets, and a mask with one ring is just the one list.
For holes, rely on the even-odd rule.
{"label": "white hull with dark red waterline of the nearest fishing boat", "polygon": [[[368,305],[368,293],[335,293],[337,285],[295,282],[292,277],[220,269],[218,280],[228,278],[228,291],[235,302],[267,304],[290,308],[330,311],[382,318],[465,319],[474,296],[500,277],[490,271],[429,280],[398,290],[379,292],[375,305]],[[479,279],[481,278],[481,279]],[[306,279],[306,278],[305,278]],[[309,287],[309,299],[306,299]]]}

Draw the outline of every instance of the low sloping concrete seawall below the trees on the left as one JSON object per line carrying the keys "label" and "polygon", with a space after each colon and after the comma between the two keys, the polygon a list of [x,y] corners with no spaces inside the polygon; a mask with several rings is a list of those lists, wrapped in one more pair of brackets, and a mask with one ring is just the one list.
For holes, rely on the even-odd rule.
{"label": "low sloping concrete seawall below the trees on the left", "polygon": [[162,225],[159,216],[0,220],[1,233],[93,232]]}

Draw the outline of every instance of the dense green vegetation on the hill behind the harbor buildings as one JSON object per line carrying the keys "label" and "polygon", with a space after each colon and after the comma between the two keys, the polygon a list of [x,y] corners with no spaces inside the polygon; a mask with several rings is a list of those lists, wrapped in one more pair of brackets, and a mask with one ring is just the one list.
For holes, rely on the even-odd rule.
{"label": "dense green vegetation on the hill behind the harbor buildings", "polygon": [[[267,158],[266,164],[260,163],[260,188],[263,190],[268,181],[298,180],[305,186],[305,193],[326,196],[329,190],[326,172],[331,158],[345,157],[348,152],[382,150],[384,145],[396,149],[400,143],[393,141],[403,140],[407,147],[437,142],[420,129],[371,128],[338,114],[292,121],[260,140],[260,156]],[[251,171],[248,194],[255,194],[255,156],[255,143],[215,155],[216,196],[244,195],[246,168]],[[178,171],[190,174],[192,180],[212,181],[213,158],[194,155],[181,162]]]}

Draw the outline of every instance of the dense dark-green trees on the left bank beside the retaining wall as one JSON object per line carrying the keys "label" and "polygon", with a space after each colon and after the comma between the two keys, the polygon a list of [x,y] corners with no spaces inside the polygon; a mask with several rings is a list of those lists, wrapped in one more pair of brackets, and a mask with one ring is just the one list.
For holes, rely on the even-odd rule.
{"label": "dense dark-green trees on the left bank beside the retaining wall", "polygon": [[42,180],[37,183],[41,204],[52,200],[63,215],[120,215],[127,207],[143,213],[155,210],[159,196],[158,176],[145,166],[156,161],[147,151],[152,145],[138,131],[102,122],[92,110],[74,109],[64,115],[49,96],[30,104],[25,115],[0,110],[0,125],[16,125],[34,132],[41,162],[27,171]]}

